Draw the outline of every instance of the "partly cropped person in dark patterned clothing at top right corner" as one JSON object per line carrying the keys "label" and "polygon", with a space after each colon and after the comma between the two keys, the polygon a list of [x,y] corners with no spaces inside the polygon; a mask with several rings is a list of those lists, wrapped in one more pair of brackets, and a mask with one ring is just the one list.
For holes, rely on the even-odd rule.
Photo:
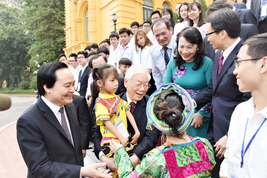
{"label": "partly cropped person in dark patterned clothing at top right corner", "polygon": [[259,33],[267,32],[267,16],[262,14],[262,6],[266,5],[265,0],[252,0],[250,9],[257,18]]}

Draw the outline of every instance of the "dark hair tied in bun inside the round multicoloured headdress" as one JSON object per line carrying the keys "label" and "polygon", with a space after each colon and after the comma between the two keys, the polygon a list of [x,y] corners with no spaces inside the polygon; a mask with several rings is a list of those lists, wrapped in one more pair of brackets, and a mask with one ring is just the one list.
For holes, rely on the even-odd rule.
{"label": "dark hair tied in bun inside the round multicoloured headdress", "polygon": [[174,90],[169,90],[161,93],[156,99],[153,112],[158,120],[169,125],[174,136],[180,138],[182,133],[179,133],[177,128],[183,124],[184,108],[182,98]]}

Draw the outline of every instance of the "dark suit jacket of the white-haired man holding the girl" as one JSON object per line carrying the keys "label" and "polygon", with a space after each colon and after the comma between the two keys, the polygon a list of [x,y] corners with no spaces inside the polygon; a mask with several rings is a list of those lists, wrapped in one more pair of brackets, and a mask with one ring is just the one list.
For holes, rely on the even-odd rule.
{"label": "dark suit jacket of the white-haired man holding the girl", "polygon": [[[122,93],[119,95],[120,98],[122,98],[124,101],[127,101],[126,93]],[[134,120],[136,122],[136,125],[140,132],[140,137],[137,141],[137,148],[134,150],[134,153],[139,158],[139,160],[143,159],[144,154],[147,154],[149,151],[151,151],[153,148],[156,147],[156,144],[158,142],[158,138],[160,136],[160,131],[156,128],[154,128],[152,131],[147,130],[147,101],[149,99],[149,96],[145,95],[142,100],[137,101],[133,116]],[[135,131],[129,120],[127,120],[128,128],[127,130],[129,133],[131,133],[132,136],[134,136]],[[93,129],[93,140],[94,140],[94,146],[95,146],[95,154],[98,158],[99,153],[101,152],[100,142],[102,139],[102,135],[100,132],[100,126],[96,125]],[[100,158],[98,158],[100,159]]]}

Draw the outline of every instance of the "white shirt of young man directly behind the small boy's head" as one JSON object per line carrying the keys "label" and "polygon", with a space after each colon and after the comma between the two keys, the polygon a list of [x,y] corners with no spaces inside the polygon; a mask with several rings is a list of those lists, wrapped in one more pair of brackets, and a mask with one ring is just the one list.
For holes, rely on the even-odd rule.
{"label": "white shirt of young man directly behind the small boy's head", "polygon": [[[117,50],[118,49],[118,50]],[[134,65],[134,53],[136,53],[135,48],[128,43],[126,47],[123,49],[123,45],[121,44],[120,46],[117,47],[116,54],[114,55],[114,63],[117,64],[117,71],[120,74],[119,70],[119,61],[121,58],[128,58],[132,62],[132,65]]]}

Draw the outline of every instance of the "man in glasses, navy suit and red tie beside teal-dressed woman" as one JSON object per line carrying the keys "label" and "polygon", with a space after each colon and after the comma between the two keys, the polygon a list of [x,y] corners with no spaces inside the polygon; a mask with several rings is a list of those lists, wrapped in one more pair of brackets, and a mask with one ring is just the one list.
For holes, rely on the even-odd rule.
{"label": "man in glasses, navy suit and red tie beside teal-dressed woman", "polygon": [[[231,9],[220,9],[209,18],[208,41],[219,51],[214,56],[212,78],[208,87],[194,98],[197,110],[212,101],[207,139],[217,153],[216,166],[212,170],[213,178],[219,177],[232,113],[238,104],[251,97],[250,93],[239,91],[233,74],[234,60],[243,42],[239,38],[240,28],[239,15]],[[202,125],[198,114],[194,115],[193,123],[197,127]]]}

